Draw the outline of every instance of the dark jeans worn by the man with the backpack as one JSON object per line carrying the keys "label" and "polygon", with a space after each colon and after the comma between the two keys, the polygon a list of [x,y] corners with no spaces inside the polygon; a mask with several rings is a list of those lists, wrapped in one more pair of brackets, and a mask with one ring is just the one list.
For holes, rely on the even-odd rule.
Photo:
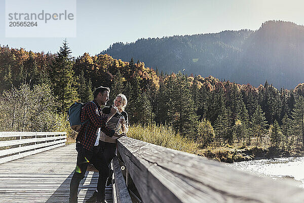
{"label": "dark jeans worn by the man with the backpack", "polygon": [[104,190],[107,177],[109,175],[108,165],[100,150],[100,146],[94,146],[92,151],[86,150],[80,143],[76,144],[77,166],[70,183],[69,202],[77,203],[77,193],[80,181],[85,177],[89,162],[92,163],[99,172],[97,183],[97,200],[104,200]]}

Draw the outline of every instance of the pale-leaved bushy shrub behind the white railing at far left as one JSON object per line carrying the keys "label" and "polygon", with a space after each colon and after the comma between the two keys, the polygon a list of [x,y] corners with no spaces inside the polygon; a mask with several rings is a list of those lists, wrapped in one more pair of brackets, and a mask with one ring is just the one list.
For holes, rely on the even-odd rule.
{"label": "pale-leaved bushy shrub behind the white railing at far left", "polygon": [[0,98],[0,130],[58,131],[62,115],[56,109],[57,102],[48,85],[12,87]]}

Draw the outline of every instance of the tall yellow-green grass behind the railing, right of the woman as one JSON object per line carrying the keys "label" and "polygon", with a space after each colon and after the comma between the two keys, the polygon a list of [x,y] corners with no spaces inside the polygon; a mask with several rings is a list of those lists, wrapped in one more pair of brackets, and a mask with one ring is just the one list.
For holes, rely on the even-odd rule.
{"label": "tall yellow-green grass behind the railing, right of the woman", "polygon": [[168,125],[134,124],[129,127],[128,137],[192,154],[198,152],[196,142],[182,137]]}

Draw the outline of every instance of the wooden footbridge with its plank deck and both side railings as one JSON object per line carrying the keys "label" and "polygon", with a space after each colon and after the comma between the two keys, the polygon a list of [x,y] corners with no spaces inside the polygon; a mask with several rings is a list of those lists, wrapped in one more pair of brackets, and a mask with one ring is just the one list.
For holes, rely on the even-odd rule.
{"label": "wooden footbridge with its plank deck and both side railings", "polygon": [[[65,132],[0,132],[0,138],[0,202],[68,202],[77,152],[65,145]],[[304,190],[291,181],[126,137],[112,167],[107,202],[304,202]],[[97,176],[86,173],[79,202],[92,196]]]}

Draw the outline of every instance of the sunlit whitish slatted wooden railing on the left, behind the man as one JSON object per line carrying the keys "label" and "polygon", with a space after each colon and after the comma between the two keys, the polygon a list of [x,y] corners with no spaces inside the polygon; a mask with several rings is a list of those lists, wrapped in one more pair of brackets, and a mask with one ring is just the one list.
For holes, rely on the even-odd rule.
{"label": "sunlit whitish slatted wooden railing on the left, behind the man", "polygon": [[65,145],[66,132],[0,132],[0,163]]}

